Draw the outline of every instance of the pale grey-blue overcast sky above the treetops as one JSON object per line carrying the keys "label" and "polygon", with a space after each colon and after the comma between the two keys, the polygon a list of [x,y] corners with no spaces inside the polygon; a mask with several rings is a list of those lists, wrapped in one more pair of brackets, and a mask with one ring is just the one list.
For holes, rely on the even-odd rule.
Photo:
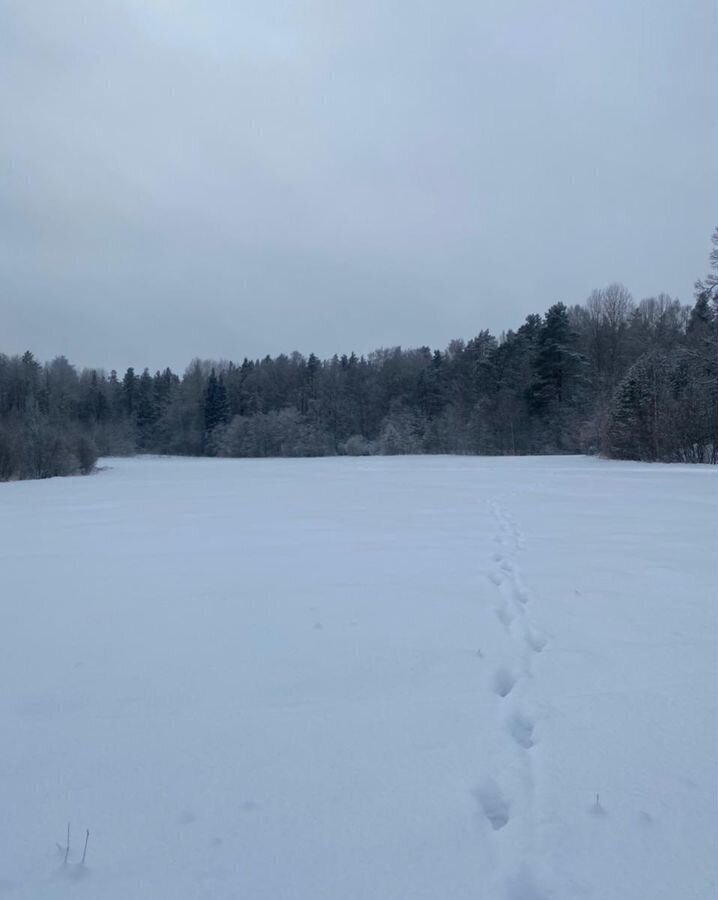
{"label": "pale grey-blue overcast sky above the treetops", "polygon": [[714,0],[0,0],[0,352],[183,369],[691,302]]}

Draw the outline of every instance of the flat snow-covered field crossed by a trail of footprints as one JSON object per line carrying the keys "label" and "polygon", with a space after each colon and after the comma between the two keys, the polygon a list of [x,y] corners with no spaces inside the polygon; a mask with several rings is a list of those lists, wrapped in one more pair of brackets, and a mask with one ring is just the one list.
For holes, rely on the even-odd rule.
{"label": "flat snow-covered field crossed by a trail of footprints", "polygon": [[0,485],[0,896],[715,898],[717,471],[105,465]]}

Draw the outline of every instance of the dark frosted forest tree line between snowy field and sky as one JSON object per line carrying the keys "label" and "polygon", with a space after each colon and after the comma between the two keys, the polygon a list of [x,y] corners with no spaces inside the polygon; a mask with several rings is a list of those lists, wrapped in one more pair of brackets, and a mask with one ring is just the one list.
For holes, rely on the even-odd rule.
{"label": "dark frosted forest tree line between snowy field and sky", "polygon": [[183,375],[0,354],[0,480],[98,456],[599,453],[716,462],[718,229],[694,303],[620,284],[496,338],[320,360],[194,360]]}

